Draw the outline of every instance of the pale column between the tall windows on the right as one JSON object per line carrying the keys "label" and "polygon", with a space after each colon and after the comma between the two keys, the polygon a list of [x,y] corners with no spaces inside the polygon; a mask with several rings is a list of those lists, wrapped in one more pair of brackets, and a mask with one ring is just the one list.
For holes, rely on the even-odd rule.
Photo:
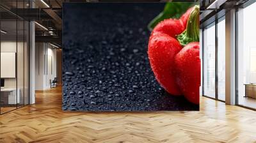
{"label": "pale column between the tall windows on the right", "polygon": [[226,12],[226,103],[236,104],[236,10]]}

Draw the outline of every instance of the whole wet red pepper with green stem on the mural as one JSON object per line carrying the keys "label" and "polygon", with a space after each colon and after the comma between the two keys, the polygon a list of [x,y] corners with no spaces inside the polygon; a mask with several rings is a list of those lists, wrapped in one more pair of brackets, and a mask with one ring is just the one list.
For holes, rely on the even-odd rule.
{"label": "whole wet red pepper with green stem on the mural", "polygon": [[179,20],[160,22],[148,41],[148,59],[159,84],[195,104],[200,87],[199,11],[194,6]]}

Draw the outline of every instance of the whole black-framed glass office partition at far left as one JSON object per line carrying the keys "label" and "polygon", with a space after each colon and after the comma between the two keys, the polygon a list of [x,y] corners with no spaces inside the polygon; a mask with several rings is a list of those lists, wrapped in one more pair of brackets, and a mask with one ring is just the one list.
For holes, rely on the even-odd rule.
{"label": "whole black-framed glass office partition at far left", "polygon": [[[28,1],[12,1],[12,8],[28,8]],[[29,104],[29,22],[18,15],[0,8],[0,114]]]}

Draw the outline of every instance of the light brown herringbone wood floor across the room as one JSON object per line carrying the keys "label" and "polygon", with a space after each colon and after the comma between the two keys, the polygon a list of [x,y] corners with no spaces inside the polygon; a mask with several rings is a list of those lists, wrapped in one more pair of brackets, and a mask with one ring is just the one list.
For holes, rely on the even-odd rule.
{"label": "light brown herringbone wood floor across the room", "polygon": [[204,97],[200,112],[63,112],[59,87],[0,116],[0,142],[256,142],[256,112]]}

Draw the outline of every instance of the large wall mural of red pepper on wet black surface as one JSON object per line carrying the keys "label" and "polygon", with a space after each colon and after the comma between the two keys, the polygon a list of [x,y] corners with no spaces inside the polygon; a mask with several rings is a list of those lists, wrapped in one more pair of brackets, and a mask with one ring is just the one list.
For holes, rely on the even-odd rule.
{"label": "large wall mural of red pepper on wet black surface", "polygon": [[199,110],[196,4],[63,4],[63,110]]}

